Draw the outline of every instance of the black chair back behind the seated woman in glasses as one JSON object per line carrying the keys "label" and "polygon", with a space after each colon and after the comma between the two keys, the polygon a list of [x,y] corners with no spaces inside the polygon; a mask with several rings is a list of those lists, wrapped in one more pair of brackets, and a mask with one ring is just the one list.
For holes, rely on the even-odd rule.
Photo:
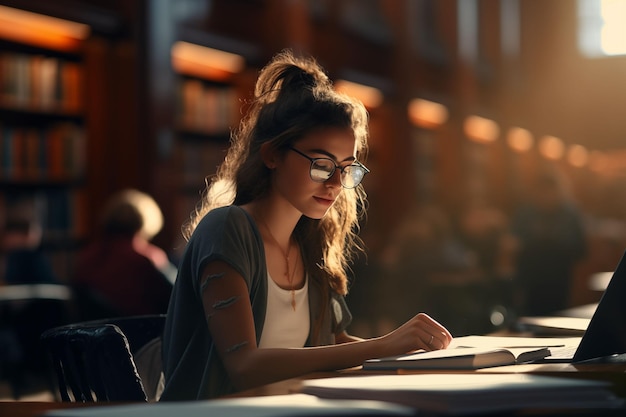
{"label": "black chair back behind the seated woman in glasses", "polygon": [[[55,391],[64,402],[153,401],[134,355],[163,331],[165,315],[94,320],[42,333]],[[159,370],[160,372],[160,370]]]}

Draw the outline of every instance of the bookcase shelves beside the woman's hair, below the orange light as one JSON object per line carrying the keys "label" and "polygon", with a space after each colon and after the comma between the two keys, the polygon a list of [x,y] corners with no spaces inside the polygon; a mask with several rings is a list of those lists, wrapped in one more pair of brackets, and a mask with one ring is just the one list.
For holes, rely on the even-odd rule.
{"label": "bookcase shelves beside the woman's hair, below the orange light", "polygon": [[252,94],[254,79],[249,73],[254,69],[245,57],[239,58],[243,65],[234,73],[201,68],[199,63],[196,64],[200,70],[172,64],[176,104],[170,172],[175,178],[173,191],[178,198],[174,207],[170,207],[173,216],[169,223],[176,229],[174,241],[182,238],[180,226],[189,219],[207,182],[224,160],[231,134],[242,117],[242,107]]}

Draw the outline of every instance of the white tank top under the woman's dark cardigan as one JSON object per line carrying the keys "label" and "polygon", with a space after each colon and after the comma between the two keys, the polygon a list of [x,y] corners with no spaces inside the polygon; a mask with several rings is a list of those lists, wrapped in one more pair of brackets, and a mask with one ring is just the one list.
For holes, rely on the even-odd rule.
{"label": "white tank top under the woman's dark cardigan", "polygon": [[280,288],[267,274],[267,309],[260,348],[304,347],[309,337],[309,280],[295,290],[296,310],[291,306],[291,290]]}

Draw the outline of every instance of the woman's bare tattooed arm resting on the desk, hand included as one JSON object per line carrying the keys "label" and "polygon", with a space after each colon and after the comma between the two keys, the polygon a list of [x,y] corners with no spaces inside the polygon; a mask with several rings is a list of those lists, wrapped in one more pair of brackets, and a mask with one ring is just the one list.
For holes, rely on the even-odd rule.
{"label": "woman's bare tattooed arm resting on the desk, hand included", "polygon": [[350,368],[366,359],[445,348],[452,340],[443,326],[418,314],[377,338],[360,339],[344,332],[331,346],[259,349],[244,279],[224,262],[210,263],[203,276],[202,299],[209,331],[232,382],[240,390],[311,372]]}

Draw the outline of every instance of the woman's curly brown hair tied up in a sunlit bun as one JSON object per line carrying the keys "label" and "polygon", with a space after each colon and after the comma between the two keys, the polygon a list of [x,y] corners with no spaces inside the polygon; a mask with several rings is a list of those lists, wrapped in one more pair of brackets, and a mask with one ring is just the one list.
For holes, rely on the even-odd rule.
{"label": "woman's curly brown hair tied up in a sunlit bun", "polygon": [[[363,104],[334,90],[329,77],[315,59],[297,57],[291,51],[277,54],[257,79],[254,98],[217,174],[197,209],[183,226],[189,238],[210,210],[229,204],[243,205],[266,196],[271,171],[261,158],[261,145],[269,143],[286,152],[297,140],[325,128],[351,129],[357,143],[357,159],[367,152],[368,114]],[[362,185],[344,189],[322,219],[302,216],[294,236],[303,248],[307,271],[346,294],[347,271],[353,256],[362,251],[359,221],[366,209]],[[325,271],[326,273],[317,273]]]}

